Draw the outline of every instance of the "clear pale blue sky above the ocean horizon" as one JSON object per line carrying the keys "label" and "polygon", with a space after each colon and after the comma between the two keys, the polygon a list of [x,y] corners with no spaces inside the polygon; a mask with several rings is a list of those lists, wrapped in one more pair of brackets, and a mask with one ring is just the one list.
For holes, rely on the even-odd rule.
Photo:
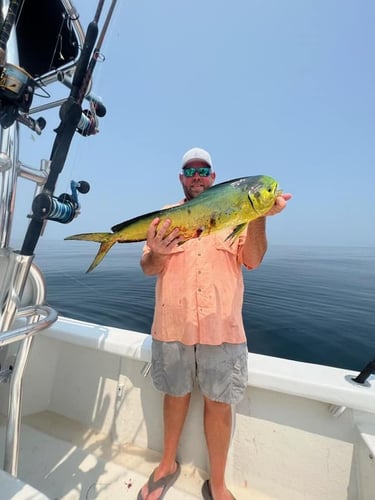
{"label": "clear pale blue sky above the ocean horizon", "polygon": [[[75,5],[86,28],[96,3]],[[107,115],[99,134],[74,137],[55,194],[71,179],[91,190],[43,238],[107,231],[181,199],[181,157],[200,146],[217,182],[267,174],[293,194],[268,221],[270,244],[375,246],[374,19],[373,0],[118,0],[94,73]],[[42,136],[22,130],[28,165],[50,155],[59,118],[43,116]]]}

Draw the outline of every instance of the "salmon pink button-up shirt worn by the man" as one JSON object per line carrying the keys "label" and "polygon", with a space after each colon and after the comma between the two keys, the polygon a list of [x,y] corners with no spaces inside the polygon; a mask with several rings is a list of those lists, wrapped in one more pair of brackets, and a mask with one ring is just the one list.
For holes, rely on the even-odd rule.
{"label": "salmon pink button-up shirt worn by the man", "polygon": [[[246,342],[242,321],[242,248],[231,229],[176,247],[158,275],[153,338],[186,345]],[[145,245],[144,253],[150,251]]]}

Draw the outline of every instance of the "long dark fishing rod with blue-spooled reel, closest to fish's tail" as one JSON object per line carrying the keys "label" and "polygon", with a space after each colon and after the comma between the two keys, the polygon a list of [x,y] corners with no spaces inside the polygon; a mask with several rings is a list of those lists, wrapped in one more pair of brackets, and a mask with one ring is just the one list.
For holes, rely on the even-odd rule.
{"label": "long dark fishing rod with blue-spooled reel, closest to fish's tail", "polygon": [[[54,196],[58,176],[60,175],[73,139],[74,133],[79,130],[80,120],[85,116],[82,113],[82,102],[88,90],[92,74],[100,54],[100,49],[107,32],[117,0],[112,0],[103,28],[99,34],[98,22],[105,0],[99,0],[93,20],[89,23],[80,58],[71,82],[71,91],[68,99],[60,108],[60,124],[55,130],[56,137],[50,156],[50,170],[43,190],[38,194],[32,204],[31,221],[28,226],[20,254],[33,255],[40,235],[47,220],[68,223],[77,215],[79,204],[77,191],[87,193],[90,189],[88,183],[72,181],[72,195],[64,193],[60,197]],[[95,45],[96,43],[96,45]],[[93,105],[95,112],[95,105]],[[105,108],[104,108],[105,109]],[[99,111],[100,112],[100,111]],[[89,113],[88,120],[92,119]]]}

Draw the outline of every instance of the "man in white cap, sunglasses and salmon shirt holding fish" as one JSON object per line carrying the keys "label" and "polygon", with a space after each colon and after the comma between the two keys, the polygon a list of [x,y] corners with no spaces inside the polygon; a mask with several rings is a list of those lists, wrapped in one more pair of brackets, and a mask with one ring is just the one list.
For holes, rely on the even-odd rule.
{"label": "man in white cap, sunglasses and salmon shirt holding fish", "polygon": [[[196,198],[215,181],[210,154],[193,148],[183,156],[185,199]],[[281,212],[291,195],[276,199],[267,215]],[[151,223],[141,258],[145,274],[158,275],[152,325],[152,378],[164,392],[164,451],[158,467],[138,494],[158,500],[176,481],[179,438],[195,382],[204,397],[204,431],[210,480],[203,498],[229,500],[225,467],[231,437],[231,405],[247,385],[247,343],[242,323],[242,265],[254,269],[267,249],[266,218],[260,217],[233,243],[230,231],[178,245],[179,230],[167,236],[171,221]]]}

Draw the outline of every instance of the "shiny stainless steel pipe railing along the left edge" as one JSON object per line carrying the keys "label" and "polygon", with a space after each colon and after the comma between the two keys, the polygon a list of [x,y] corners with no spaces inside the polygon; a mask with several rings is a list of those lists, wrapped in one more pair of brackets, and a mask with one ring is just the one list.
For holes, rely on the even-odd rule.
{"label": "shiny stainless steel pipe railing along the left edge", "polygon": [[[73,10],[70,0],[61,2],[67,12]],[[0,3],[4,16],[9,7],[9,0],[2,0]],[[72,24],[82,46],[84,33],[78,17],[72,20]],[[6,47],[6,62],[19,64],[14,28]],[[57,81],[62,71],[70,74],[75,64],[76,61],[72,61],[59,71],[51,71],[44,75],[44,80],[40,79],[40,83],[46,86]],[[52,103],[50,107],[54,105],[55,103]],[[36,189],[40,189],[45,183],[49,168],[47,160],[42,160],[40,170],[23,165],[19,159],[19,140],[18,122],[0,128],[0,382],[9,382],[4,470],[13,476],[17,475],[22,380],[30,349],[34,336],[57,319],[57,312],[44,305],[45,281],[40,270],[33,264],[34,256],[21,255],[10,248],[18,177],[32,180],[37,184]],[[23,306],[27,285],[31,286],[32,290],[27,298],[27,305]]]}

